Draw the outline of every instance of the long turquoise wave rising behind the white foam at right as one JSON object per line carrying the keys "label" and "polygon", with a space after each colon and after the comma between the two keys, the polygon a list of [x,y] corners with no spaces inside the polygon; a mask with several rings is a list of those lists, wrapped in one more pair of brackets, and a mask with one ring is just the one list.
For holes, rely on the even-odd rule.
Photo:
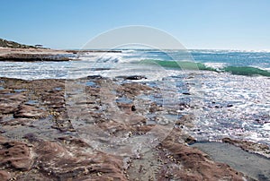
{"label": "long turquoise wave rising behind the white foam at right", "polygon": [[202,71],[213,71],[213,72],[227,72],[232,74],[238,75],[262,75],[266,77],[270,77],[270,72],[266,70],[262,70],[257,67],[251,66],[226,66],[220,69],[212,68],[206,66],[202,63],[196,62],[187,62],[187,61],[164,61],[164,60],[153,60],[153,59],[146,59],[141,60],[140,64],[148,64],[148,65],[160,65],[167,68],[175,68],[175,69],[182,69],[182,70],[202,70]]}

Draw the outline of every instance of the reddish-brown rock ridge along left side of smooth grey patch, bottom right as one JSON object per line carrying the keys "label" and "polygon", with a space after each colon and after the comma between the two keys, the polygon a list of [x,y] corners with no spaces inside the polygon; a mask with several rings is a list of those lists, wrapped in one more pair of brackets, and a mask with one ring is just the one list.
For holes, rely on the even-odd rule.
{"label": "reddish-brown rock ridge along left side of smooth grey patch, bottom right", "polygon": [[202,151],[175,142],[174,132],[169,135],[162,146],[171,158],[181,163],[186,171],[175,170],[173,175],[181,180],[243,180],[243,174],[229,168],[223,163],[214,162]]}

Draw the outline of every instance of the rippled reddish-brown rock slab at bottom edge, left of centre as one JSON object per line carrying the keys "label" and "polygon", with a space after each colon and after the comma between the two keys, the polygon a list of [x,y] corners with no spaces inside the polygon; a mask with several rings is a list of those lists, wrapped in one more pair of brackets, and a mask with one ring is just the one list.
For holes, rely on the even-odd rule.
{"label": "rippled reddish-brown rock slab at bottom edge, left of centre", "polygon": [[87,153],[83,151],[85,148],[77,149],[76,143],[70,142],[67,148],[58,142],[39,142],[35,149],[39,168],[56,180],[83,180],[89,177],[125,180],[121,158],[102,152]]}

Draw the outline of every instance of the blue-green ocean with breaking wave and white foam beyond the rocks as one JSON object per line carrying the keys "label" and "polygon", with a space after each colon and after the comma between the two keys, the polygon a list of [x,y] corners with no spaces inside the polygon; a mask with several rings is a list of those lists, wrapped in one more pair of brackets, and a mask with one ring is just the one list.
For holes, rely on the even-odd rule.
{"label": "blue-green ocean with breaking wave and white foam beyond the rocks", "polygon": [[[198,141],[224,137],[270,145],[270,52],[235,50],[121,49],[84,52],[68,62],[0,62],[0,76],[76,79],[102,75],[119,79],[143,75],[163,91],[161,106],[193,115],[184,132]],[[80,60],[76,60],[79,58]],[[188,104],[180,109],[179,105]]]}

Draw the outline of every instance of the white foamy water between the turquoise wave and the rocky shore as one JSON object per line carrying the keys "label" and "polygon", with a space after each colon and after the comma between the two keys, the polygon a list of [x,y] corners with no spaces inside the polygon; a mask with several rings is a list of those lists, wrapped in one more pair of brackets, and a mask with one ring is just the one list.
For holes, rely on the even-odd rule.
{"label": "white foamy water between the turquoise wave and the rocky shore", "polygon": [[[186,132],[198,140],[233,137],[270,145],[269,78],[206,71],[166,70],[160,66],[127,63],[127,60],[145,58],[139,56],[140,52],[133,57],[133,53],[88,53],[80,56],[81,61],[69,62],[0,62],[0,76],[32,80],[76,79],[91,74],[112,78],[139,74],[148,77],[147,80],[142,80],[143,82],[160,82],[166,77],[178,76],[171,78],[172,83],[189,83],[188,89],[191,92],[191,95],[182,95],[180,99],[191,99],[196,110],[195,126],[192,129],[184,128]],[[224,64],[209,65],[220,67]],[[188,110],[182,113],[185,114],[186,111]]]}

